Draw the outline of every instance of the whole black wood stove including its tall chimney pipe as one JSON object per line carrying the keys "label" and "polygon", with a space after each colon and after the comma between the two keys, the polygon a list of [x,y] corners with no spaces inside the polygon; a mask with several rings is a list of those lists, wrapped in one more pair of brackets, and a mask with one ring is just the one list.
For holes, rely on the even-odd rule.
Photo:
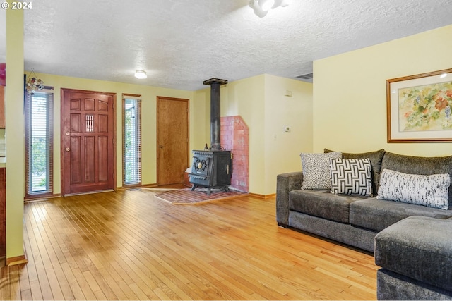
{"label": "whole black wood stove including its tall chimney pipe", "polygon": [[189,174],[189,181],[196,187],[222,188],[229,192],[232,176],[231,152],[222,149],[220,145],[220,86],[227,84],[227,80],[210,78],[204,85],[210,85],[210,142],[211,147],[193,151],[193,165]]}

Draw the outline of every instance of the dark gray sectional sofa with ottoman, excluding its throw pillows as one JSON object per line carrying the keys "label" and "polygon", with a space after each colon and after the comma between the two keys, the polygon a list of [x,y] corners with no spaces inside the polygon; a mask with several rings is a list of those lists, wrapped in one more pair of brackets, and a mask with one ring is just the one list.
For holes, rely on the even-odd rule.
{"label": "dark gray sectional sofa with ottoman, excluding its throw pillows", "polygon": [[[327,149],[325,152],[331,152]],[[369,158],[372,187],[381,171],[452,176],[452,156],[416,157],[385,152],[343,153]],[[448,210],[329,190],[302,190],[303,172],[278,175],[276,219],[347,245],[374,252],[379,300],[452,299],[452,188]]]}

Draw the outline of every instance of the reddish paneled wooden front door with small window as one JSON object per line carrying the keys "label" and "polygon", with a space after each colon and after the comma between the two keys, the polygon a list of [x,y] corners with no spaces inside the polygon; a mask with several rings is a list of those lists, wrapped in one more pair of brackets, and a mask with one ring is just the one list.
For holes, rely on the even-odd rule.
{"label": "reddish paneled wooden front door with small window", "polygon": [[114,93],[61,89],[61,194],[114,189]]}

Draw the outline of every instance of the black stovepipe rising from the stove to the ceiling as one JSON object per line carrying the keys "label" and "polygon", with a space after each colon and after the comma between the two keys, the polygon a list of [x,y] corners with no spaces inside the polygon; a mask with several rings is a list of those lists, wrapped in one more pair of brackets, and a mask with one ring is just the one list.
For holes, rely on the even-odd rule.
{"label": "black stovepipe rising from the stove to the ceiling", "polygon": [[203,84],[210,85],[210,149],[221,150],[220,86],[227,84],[227,80],[210,78],[210,80],[204,80]]}

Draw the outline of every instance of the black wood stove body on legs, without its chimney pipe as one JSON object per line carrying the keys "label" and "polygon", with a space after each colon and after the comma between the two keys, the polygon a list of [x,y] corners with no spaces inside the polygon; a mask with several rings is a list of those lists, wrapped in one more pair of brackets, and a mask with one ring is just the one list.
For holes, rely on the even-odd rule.
{"label": "black wood stove body on legs, without its chimney pipe", "polygon": [[191,190],[196,187],[222,188],[229,192],[232,174],[232,159],[230,151],[193,151],[193,164],[191,166],[190,183]]}

